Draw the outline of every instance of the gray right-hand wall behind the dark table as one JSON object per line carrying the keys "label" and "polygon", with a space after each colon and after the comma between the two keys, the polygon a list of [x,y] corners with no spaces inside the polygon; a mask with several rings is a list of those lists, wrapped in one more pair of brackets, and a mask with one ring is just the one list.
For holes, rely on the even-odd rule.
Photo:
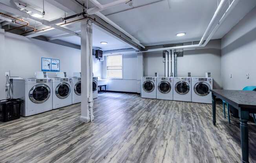
{"label": "gray right-hand wall behind the dark table", "polygon": [[256,7],[221,40],[221,79],[223,89],[256,85]]}

